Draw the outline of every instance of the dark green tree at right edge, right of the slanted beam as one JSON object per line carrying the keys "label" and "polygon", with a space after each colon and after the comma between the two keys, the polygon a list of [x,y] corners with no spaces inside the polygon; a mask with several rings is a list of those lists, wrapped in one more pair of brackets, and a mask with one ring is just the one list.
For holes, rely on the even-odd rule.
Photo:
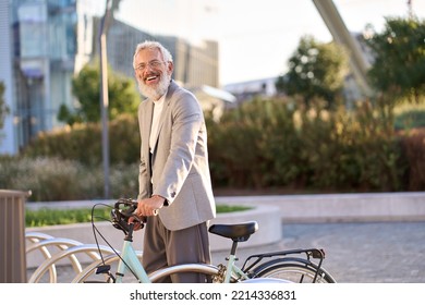
{"label": "dark green tree at right edge, right of the slanted beam", "polygon": [[[373,28],[372,28],[373,30]],[[372,84],[393,99],[420,102],[425,95],[425,22],[386,19],[382,33],[373,33],[367,45],[375,58]]]}

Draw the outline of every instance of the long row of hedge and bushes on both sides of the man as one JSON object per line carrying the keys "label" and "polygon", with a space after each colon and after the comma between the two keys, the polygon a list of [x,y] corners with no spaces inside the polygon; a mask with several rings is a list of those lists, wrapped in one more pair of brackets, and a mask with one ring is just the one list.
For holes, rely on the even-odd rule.
{"label": "long row of hedge and bushes on both sides of the man", "polygon": [[[215,187],[300,192],[425,190],[425,132],[396,132],[369,102],[327,111],[288,99],[255,99],[206,113]],[[137,120],[110,122],[111,196],[135,197]],[[102,197],[100,125],[40,135],[19,157],[0,158],[0,188],[32,190],[32,200]]]}

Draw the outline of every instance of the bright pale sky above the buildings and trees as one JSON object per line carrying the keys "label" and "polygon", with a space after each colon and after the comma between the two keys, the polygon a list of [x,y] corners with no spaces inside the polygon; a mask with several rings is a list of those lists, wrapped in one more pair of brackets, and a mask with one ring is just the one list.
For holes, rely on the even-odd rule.
{"label": "bright pale sky above the buildings and trees", "polygon": [[[179,5],[177,5],[177,1]],[[350,32],[372,24],[379,33],[385,17],[406,17],[408,0],[335,0]],[[411,0],[425,19],[425,0]],[[122,0],[116,14],[141,29],[219,42],[220,84],[276,77],[304,35],[320,42],[331,35],[312,0]]]}

